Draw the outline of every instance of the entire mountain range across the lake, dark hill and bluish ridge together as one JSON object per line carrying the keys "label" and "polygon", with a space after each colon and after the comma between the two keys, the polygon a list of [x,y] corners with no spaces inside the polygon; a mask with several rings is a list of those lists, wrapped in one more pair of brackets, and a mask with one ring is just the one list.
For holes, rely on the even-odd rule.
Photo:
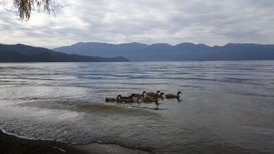
{"label": "entire mountain range across the lake, dark hill and bluish ridge together", "polygon": [[[122,57],[123,56],[123,57]],[[108,44],[79,42],[46,49],[25,44],[0,44],[0,62],[130,62],[132,61],[215,61],[274,60],[274,44],[234,44],[210,47],[205,44],[166,43]]]}

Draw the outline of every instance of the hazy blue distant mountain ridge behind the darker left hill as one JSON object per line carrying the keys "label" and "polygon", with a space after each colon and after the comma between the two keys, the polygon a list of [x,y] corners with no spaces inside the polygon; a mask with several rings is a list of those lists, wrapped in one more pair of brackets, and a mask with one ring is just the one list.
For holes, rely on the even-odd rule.
{"label": "hazy blue distant mountain ridge behind the darker left hill", "polygon": [[196,61],[196,60],[274,60],[274,45],[233,44],[223,47],[209,47],[205,44],[189,42],[175,46],[160,44],[108,44],[99,42],[79,42],[71,46],[58,47],[53,51],[114,57],[123,55],[133,61]]}

